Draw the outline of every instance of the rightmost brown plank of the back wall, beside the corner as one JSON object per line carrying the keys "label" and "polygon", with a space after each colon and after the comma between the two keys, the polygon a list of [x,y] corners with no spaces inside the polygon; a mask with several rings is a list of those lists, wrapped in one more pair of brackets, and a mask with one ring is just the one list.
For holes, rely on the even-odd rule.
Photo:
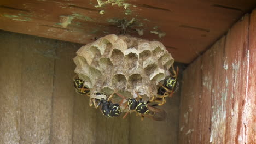
{"label": "rightmost brown plank of the back wall, beside the corner", "polygon": [[130,117],[129,143],[178,143],[179,125],[179,93],[168,98],[164,106],[159,107],[167,113],[165,121],[152,121],[152,119],[141,118],[135,113]]}

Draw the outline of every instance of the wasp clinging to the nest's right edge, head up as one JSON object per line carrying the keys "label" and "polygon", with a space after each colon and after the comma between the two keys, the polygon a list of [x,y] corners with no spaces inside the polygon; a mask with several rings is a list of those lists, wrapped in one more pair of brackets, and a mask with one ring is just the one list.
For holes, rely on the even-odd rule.
{"label": "wasp clinging to the nest's right edge, head up", "polygon": [[158,88],[158,98],[156,98],[156,100],[162,99],[162,102],[158,105],[165,104],[166,103],[165,97],[172,97],[173,93],[176,92],[179,87],[179,83],[177,81],[179,67],[177,67],[175,71],[172,65],[172,71],[173,71],[173,74],[170,73],[170,77],[165,79],[163,85],[162,83],[159,83],[161,87]]}

